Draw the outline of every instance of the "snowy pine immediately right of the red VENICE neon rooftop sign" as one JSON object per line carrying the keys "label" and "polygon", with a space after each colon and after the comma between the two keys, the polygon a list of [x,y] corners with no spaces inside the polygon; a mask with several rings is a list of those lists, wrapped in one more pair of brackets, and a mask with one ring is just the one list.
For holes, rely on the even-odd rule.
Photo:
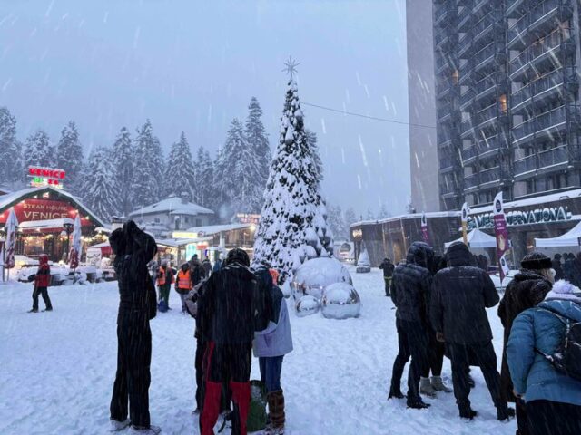
{"label": "snowy pine immediately right of the red VENICE neon rooftop sign", "polygon": [[66,172],[66,189],[77,193],[80,187],[79,178],[83,170],[83,148],[73,121],[70,121],[61,131],[56,154],[58,169],[64,169]]}

